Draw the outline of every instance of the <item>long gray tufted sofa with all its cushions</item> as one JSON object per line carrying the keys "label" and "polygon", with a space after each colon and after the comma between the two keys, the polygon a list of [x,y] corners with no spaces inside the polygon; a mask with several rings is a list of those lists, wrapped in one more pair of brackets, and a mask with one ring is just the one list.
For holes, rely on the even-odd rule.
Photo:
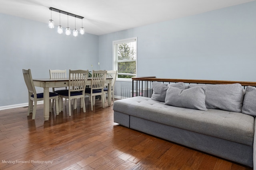
{"label": "long gray tufted sofa with all its cushions", "polygon": [[246,166],[256,163],[255,87],[153,82],[152,89],[151,98],[116,100],[114,122]]}

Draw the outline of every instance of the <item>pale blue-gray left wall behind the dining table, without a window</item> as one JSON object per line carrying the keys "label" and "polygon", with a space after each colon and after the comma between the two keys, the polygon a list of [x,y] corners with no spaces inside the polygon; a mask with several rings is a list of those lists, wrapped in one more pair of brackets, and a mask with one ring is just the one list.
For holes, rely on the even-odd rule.
{"label": "pale blue-gray left wall behind the dining table, without a window", "polygon": [[47,23],[1,13],[0,23],[0,107],[28,103],[23,68],[30,68],[33,78],[48,78],[49,69],[68,73],[98,65],[97,35],[60,35],[56,25],[50,29]]}

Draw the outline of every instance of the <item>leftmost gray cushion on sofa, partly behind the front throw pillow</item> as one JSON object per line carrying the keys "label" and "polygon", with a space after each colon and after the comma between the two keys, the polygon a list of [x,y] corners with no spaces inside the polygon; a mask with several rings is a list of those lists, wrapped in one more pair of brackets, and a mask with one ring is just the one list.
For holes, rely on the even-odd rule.
{"label": "leftmost gray cushion on sofa, partly behind the front throw pillow", "polygon": [[159,82],[152,82],[153,94],[151,99],[159,102],[164,102],[166,96],[167,86],[172,86],[180,89],[185,89],[186,85],[184,82],[178,82],[174,84],[164,84]]}

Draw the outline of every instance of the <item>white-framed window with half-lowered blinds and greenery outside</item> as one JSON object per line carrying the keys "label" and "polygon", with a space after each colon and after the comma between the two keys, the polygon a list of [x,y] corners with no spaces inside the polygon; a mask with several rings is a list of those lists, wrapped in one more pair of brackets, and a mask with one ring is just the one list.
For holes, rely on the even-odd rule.
{"label": "white-framed window with half-lowered blinds and greenery outside", "polygon": [[117,79],[136,77],[137,37],[113,41],[113,61]]}

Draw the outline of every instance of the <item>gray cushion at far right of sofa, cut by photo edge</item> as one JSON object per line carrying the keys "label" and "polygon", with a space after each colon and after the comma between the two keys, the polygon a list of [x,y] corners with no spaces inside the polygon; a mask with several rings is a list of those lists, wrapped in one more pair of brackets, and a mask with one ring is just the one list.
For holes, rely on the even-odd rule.
{"label": "gray cushion at far right of sofa, cut by photo edge", "polygon": [[256,116],[256,88],[248,86],[245,89],[242,113]]}

